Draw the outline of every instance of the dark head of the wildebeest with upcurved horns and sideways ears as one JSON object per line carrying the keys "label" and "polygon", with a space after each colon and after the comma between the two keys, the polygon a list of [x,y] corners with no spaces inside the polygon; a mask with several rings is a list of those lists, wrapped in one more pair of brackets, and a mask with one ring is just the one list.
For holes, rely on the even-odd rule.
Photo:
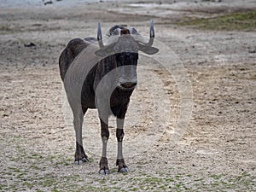
{"label": "dark head of the wildebeest with upcurved horns and sideways ears", "polygon": [[150,22],[149,41],[143,42],[140,34],[134,29],[127,29],[123,26],[113,26],[108,44],[102,43],[102,29],[98,24],[97,40],[100,49],[95,54],[106,57],[114,55],[116,69],[119,76],[118,86],[121,89],[134,89],[137,85],[137,60],[138,51],[148,55],[156,54],[159,49],[152,47],[154,43],[154,25]]}

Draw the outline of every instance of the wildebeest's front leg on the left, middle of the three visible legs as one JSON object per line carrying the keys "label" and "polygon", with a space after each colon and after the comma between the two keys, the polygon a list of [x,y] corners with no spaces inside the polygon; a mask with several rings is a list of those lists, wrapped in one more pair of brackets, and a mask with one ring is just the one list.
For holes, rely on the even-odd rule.
{"label": "wildebeest's front leg on the left, middle of the three visible legs", "polygon": [[[108,120],[105,120],[108,121]],[[105,122],[101,119],[101,126],[102,126],[102,159],[100,161],[100,174],[108,175],[108,159],[107,159],[107,143],[109,138],[109,131],[108,131],[108,122]]]}

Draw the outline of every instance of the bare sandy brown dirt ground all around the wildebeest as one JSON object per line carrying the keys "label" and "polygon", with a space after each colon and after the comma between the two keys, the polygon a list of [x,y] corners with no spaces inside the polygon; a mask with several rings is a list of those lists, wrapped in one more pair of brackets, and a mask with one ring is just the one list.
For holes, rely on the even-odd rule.
{"label": "bare sandy brown dirt ground all around the wildebeest", "polygon": [[[0,7],[0,190],[255,191],[256,34],[201,31],[176,21],[256,9],[256,3],[78,2]],[[96,110],[84,120],[90,163],[74,165],[73,119],[58,70],[62,49],[72,38],[96,37],[98,21],[103,33],[127,24],[148,38],[150,19],[160,56],[140,55],[125,121],[131,172],[117,172],[111,119],[112,174],[98,174]]]}

